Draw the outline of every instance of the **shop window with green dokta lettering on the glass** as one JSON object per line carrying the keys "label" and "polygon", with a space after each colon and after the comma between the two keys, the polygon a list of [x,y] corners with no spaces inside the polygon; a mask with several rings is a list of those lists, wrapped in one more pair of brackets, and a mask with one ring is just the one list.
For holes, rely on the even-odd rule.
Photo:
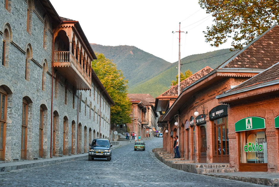
{"label": "shop window with green dokta lettering on the glass", "polygon": [[240,163],[267,163],[267,138],[265,131],[240,132]]}

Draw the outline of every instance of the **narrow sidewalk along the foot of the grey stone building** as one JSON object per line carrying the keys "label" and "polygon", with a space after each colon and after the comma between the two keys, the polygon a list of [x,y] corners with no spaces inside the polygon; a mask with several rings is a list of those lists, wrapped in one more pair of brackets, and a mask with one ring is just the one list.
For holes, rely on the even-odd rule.
{"label": "narrow sidewalk along the foot of the grey stone building", "polygon": [[[122,145],[125,145],[128,143],[131,143],[131,142],[130,141],[111,142],[112,149],[115,149],[119,146],[122,146]],[[71,161],[71,160],[77,160],[77,159],[86,159],[86,158],[88,158],[88,153],[70,155],[70,156],[61,156],[61,157],[59,156],[59,157],[53,157],[53,158],[49,158],[49,159],[3,162],[3,163],[0,163],[0,175],[3,173],[6,173],[6,172],[12,171],[12,170],[17,170],[17,169],[45,166],[45,165],[54,164],[54,163],[58,163],[58,162]]]}

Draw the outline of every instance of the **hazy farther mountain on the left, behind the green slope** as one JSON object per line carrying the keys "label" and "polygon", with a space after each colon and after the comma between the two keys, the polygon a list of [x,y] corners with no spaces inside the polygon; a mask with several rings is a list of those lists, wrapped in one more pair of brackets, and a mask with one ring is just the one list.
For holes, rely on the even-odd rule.
{"label": "hazy farther mountain on the left, behind the green slope", "polygon": [[121,70],[124,77],[128,79],[129,89],[159,75],[172,65],[134,46],[91,44],[91,47],[95,53],[103,53],[106,58],[113,60],[117,69]]}

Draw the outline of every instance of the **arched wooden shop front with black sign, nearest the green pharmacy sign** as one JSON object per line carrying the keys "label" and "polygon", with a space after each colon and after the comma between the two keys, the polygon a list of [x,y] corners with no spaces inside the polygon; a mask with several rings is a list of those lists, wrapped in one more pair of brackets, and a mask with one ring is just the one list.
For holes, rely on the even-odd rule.
{"label": "arched wooden shop front with black sign, nearest the green pharmacy sign", "polygon": [[208,113],[213,124],[213,162],[229,163],[228,111],[218,105]]}

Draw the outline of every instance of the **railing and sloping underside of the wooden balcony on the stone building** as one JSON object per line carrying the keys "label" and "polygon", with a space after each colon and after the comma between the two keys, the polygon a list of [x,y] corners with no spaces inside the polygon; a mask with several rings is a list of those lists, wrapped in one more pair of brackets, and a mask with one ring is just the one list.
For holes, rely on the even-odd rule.
{"label": "railing and sloping underside of the wooden balcony on the stone building", "polygon": [[53,67],[75,88],[91,90],[91,77],[69,51],[54,51]]}

